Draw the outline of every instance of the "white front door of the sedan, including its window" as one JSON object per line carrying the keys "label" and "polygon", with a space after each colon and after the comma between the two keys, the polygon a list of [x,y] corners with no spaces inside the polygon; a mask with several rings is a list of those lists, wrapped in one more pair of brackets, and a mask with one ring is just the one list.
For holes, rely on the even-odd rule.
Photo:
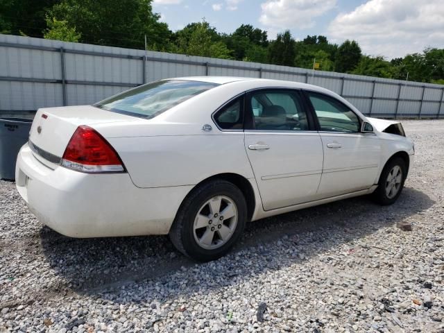
{"label": "white front door of the sedan, including its window", "polygon": [[361,133],[361,119],[332,96],[305,91],[324,148],[318,196],[326,198],[368,189],[376,180],[381,145],[374,133]]}

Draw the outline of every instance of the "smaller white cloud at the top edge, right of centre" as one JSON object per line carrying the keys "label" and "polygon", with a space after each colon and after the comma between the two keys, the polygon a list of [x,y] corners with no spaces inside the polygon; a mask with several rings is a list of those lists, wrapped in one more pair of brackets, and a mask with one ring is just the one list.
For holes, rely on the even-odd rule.
{"label": "smaller white cloud at the top edge, right of centre", "polygon": [[280,30],[310,28],[315,17],[335,6],[336,0],[267,0],[261,4],[259,22]]}

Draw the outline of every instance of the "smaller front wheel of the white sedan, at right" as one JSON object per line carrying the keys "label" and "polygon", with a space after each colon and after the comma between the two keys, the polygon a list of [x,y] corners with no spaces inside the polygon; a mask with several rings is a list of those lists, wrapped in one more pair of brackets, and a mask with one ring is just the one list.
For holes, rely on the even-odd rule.
{"label": "smaller front wheel of the white sedan, at right", "polygon": [[[400,172],[400,174],[398,172]],[[396,173],[398,177],[393,176],[394,173]],[[379,205],[391,205],[395,203],[402,192],[406,176],[407,166],[402,158],[394,157],[388,160],[384,169],[382,169],[381,176],[379,176],[377,189],[375,189],[372,194],[373,200],[379,203]],[[398,179],[393,180],[393,178]],[[388,188],[389,186],[392,188],[391,191]]]}

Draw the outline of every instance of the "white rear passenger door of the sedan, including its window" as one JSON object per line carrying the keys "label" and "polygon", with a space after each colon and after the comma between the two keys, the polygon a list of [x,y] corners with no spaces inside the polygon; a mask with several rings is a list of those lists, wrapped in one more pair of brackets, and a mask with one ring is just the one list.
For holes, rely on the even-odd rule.
{"label": "white rear passenger door of the sedan, including its window", "polygon": [[245,148],[264,210],[314,200],[323,148],[300,92],[257,89],[245,101]]}

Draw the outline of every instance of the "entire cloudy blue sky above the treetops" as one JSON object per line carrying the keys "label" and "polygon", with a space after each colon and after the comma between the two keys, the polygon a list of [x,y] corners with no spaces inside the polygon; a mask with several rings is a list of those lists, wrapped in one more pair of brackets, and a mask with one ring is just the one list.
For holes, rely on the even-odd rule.
{"label": "entire cloudy blue sky above the treetops", "polygon": [[153,9],[176,31],[205,17],[217,31],[252,24],[270,38],[289,29],[296,39],[325,35],[359,42],[387,59],[444,48],[443,0],[154,0]]}

